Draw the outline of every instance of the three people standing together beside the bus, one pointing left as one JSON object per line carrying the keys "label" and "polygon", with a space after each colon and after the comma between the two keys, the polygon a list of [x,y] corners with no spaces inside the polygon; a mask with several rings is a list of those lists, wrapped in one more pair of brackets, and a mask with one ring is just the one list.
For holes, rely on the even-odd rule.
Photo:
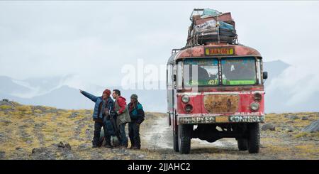
{"label": "three people standing together beside the bus, one pointing left", "polygon": [[[96,97],[89,92],[79,91],[87,98],[95,102],[94,138],[92,147],[101,146],[100,134],[103,127],[106,148],[127,148],[128,138],[125,133],[125,125],[128,123],[128,136],[130,137],[130,148],[140,149],[140,124],[144,121],[145,113],[142,104],[138,102],[138,95],[130,96],[130,103],[126,104],[126,99],[121,96],[121,91],[105,89],[101,97]],[[119,144],[114,141],[119,141]]]}

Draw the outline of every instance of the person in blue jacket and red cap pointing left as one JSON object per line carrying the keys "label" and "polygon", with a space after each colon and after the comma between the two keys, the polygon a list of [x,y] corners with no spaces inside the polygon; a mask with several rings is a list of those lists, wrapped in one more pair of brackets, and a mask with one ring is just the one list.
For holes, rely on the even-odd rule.
{"label": "person in blue jacket and red cap pointing left", "polygon": [[94,122],[94,137],[92,141],[92,148],[97,148],[101,146],[100,141],[100,134],[101,134],[101,128],[103,127],[104,130],[104,136],[106,141],[106,148],[112,148],[111,146],[111,136],[108,133],[110,130],[110,127],[107,126],[107,119],[109,112],[113,110],[114,101],[111,99],[111,91],[109,89],[105,89],[103,91],[103,94],[101,97],[96,97],[93,94],[90,94],[89,92],[82,91],[79,89],[79,91],[87,98],[91,99],[93,102],[95,102],[94,106],[94,112],[93,112],[93,120]]}

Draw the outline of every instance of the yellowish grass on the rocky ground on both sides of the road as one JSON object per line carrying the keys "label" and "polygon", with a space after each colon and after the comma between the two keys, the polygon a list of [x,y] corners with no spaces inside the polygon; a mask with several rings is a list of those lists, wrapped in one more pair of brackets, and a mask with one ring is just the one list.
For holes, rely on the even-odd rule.
{"label": "yellowish grass on the rocky ground on both sides of the road", "polygon": [[[3,133],[7,141],[1,142],[0,151],[5,151],[6,156],[11,156],[13,153],[16,153],[16,148],[23,148],[28,152],[31,152],[33,148],[39,148],[43,146],[50,146],[52,143],[59,143],[60,141],[67,141],[72,149],[77,149],[82,143],[87,143],[91,146],[91,139],[88,139],[86,136],[86,130],[90,129],[90,134],[93,134],[93,124],[91,121],[92,110],[59,110],[56,113],[43,112],[41,109],[33,109],[33,107],[28,105],[22,105],[17,107],[4,107],[6,105],[0,106],[0,132]],[[9,109],[9,110],[8,110]],[[43,107],[43,109],[55,109],[54,107]],[[89,112],[88,112],[89,111]],[[70,118],[69,116],[77,112],[77,116]],[[143,124],[152,124],[152,119],[157,116],[162,116],[162,113],[150,113],[149,117],[146,117]],[[301,153],[302,158],[317,158],[319,154],[318,145],[314,141],[306,141],[303,143],[303,138],[319,138],[319,133],[304,133],[300,131],[293,131],[289,133],[293,141],[300,141],[301,143],[295,144],[285,144],[281,139],[280,135],[286,135],[286,131],[281,126],[292,126],[296,128],[303,128],[308,126],[312,121],[318,119],[318,114],[315,113],[293,113],[291,115],[297,115],[299,119],[291,120],[285,118],[289,114],[267,114],[266,121],[276,125],[276,131],[263,131],[262,134],[264,137],[261,138],[261,143],[264,148],[261,151],[265,153],[274,153],[274,154],[293,154],[293,152]],[[308,120],[301,120],[302,116],[308,116]],[[88,118],[88,119],[84,119]],[[77,138],[74,138],[76,135],[76,129],[79,126],[77,122],[82,121],[81,124],[84,126],[79,130]],[[43,126],[36,127],[36,124],[43,124]],[[280,126],[281,125],[281,126]],[[21,129],[26,132],[29,136],[23,137],[21,135]],[[141,131],[145,128],[141,128]],[[7,133],[11,131],[11,133]],[[40,142],[39,134],[43,134],[43,142]],[[265,135],[269,135],[266,136]],[[141,137],[142,138],[142,137]],[[301,141],[302,140],[302,141]],[[143,141],[143,140],[142,140]],[[288,141],[286,141],[288,142]],[[143,142],[142,142],[143,143]],[[88,159],[91,158],[91,153],[93,151],[101,151],[103,153],[103,158],[113,158],[118,156],[116,153],[112,153],[108,149],[86,149],[85,151],[74,150],[74,153],[77,154],[80,158]],[[213,152],[211,152],[213,151]],[[208,153],[205,153],[207,156],[212,153],[212,155],[218,156],[220,158],[228,158],[230,155],[223,155],[223,150],[211,150]],[[106,153],[107,152],[107,153]],[[145,154],[148,159],[159,159],[161,158],[161,152],[155,150],[141,149],[140,151],[131,151],[132,154]],[[168,154],[169,156],[170,154]],[[233,158],[236,154],[232,154]],[[238,155],[238,157],[240,154]],[[282,158],[285,156],[281,155]],[[28,157],[26,157],[28,158]],[[57,152],[57,158],[62,158],[60,152]],[[131,156],[121,156],[123,159],[130,159]],[[279,158],[279,157],[278,157]]]}

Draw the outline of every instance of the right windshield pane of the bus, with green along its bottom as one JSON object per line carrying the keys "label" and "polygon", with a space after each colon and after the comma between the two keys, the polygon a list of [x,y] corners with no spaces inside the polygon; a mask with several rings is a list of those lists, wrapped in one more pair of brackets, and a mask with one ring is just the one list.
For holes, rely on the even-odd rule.
{"label": "right windshield pane of the bus, with green along its bottom", "polygon": [[221,60],[223,85],[256,84],[256,63],[252,57]]}

